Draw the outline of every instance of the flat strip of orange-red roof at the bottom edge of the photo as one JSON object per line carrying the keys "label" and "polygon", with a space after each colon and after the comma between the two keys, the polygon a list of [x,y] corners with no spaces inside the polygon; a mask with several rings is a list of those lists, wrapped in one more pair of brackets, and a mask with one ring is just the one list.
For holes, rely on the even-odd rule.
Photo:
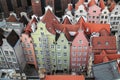
{"label": "flat strip of orange-red roof at the bottom edge of the photo", "polygon": [[83,75],[47,75],[45,80],[85,80]]}

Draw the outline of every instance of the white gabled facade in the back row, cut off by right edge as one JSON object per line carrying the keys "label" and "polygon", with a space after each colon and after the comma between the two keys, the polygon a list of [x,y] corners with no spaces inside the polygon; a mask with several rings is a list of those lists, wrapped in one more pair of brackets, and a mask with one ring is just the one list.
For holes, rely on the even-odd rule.
{"label": "white gabled facade in the back row, cut off by right edge", "polygon": [[111,31],[117,32],[120,24],[120,5],[116,5],[110,14]]}

